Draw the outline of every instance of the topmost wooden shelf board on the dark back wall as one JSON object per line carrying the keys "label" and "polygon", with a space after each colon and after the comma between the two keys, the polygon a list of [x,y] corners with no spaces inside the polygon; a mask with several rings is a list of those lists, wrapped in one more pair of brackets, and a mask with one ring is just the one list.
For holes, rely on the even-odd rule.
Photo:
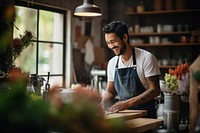
{"label": "topmost wooden shelf board on the dark back wall", "polygon": [[174,14],[174,13],[190,13],[199,12],[200,9],[186,9],[186,10],[165,10],[165,11],[146,11],[146,12],[126,12],[126,15],[156,15],[156,14]]}

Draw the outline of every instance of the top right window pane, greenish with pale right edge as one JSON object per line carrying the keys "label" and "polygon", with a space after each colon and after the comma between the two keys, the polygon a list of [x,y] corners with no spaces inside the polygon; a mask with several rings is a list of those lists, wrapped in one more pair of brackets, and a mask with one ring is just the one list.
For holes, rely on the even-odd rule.
{"label": "top right window pane, greenish with pale right edge", "polygon": [[39,40],[63,42],[63,14],[40,11]]}

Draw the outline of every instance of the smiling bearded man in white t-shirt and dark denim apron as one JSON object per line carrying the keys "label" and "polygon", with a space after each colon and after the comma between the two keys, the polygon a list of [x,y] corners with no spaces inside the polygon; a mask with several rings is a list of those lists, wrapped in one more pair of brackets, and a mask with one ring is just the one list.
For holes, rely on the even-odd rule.
{"label": "smiling bearded man in white t-shirt and dark denim apron", "polygon": [[[125,109],[145,109],[148,117],[156,117],[154,98],[160,94],[160,69],[150,52],[134,48],[129,43],[128,27],[114,20],[103,27],[108,48],[116,56],[108,62],[107,87],[102,107],[111,112]],[[116,96],[119,101],[113,102]]]}

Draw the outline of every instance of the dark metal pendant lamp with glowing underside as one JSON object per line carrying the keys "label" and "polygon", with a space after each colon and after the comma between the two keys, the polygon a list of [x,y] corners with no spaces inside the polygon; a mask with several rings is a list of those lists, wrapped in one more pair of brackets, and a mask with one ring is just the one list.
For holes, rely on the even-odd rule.
{"label": "dark metal pendant lamp with glowing underside", "polygon": [[94,5],[93,0],[84,0],[83,4],[76,7],[75,16],[82,16],[82,17],[97,17],[101,16],[101,9]]}

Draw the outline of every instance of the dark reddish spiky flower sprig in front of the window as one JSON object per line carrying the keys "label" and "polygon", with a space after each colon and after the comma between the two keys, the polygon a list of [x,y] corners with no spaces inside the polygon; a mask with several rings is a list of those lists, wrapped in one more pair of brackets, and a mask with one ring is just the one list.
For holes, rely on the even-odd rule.
{"label": "dark reddish spiky flower sprig in front of the window", "polygon": [[5,63],[10,68],[21,52],[30,45],[33,45],[33,34],[30,31],[25,31],[19,38],[14,38],[6,50]]}

